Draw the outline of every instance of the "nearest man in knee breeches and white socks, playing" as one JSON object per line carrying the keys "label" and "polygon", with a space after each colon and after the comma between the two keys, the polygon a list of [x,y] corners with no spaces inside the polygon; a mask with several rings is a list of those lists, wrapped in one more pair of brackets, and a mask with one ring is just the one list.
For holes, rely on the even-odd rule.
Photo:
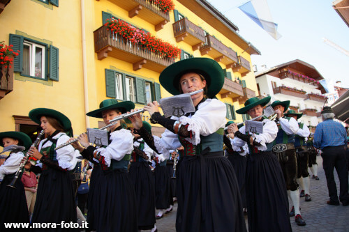
{"label": "nearest man in knee breeches and white socks, playing", "polygon": [[[283,115],[289,106],[289,100],[283,102],[276,100],[272,103],[274,111],[278,114],[277,125],[279,129],[273,143],[273,153],[279,159],[286,188],[293,203],[290,217],[295,215],[297,225],[305,226],[306,222],[304,222],[299,208],[299,185],[297,183],[297,158],[295,152],[295,134],[299,130],[299,125],[295,118]],[[292,211],[295,211],[295,213],[293,214]]]}

